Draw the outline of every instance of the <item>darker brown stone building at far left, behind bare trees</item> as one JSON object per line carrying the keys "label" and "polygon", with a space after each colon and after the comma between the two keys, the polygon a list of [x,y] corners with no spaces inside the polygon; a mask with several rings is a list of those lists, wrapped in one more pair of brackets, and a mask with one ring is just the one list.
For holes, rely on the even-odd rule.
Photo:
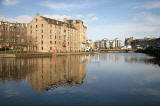
{"label": "darker brown stone building at far left, behind bare trees", "polygon": [[0,22],[0,48],[27,50],[27,24]]}

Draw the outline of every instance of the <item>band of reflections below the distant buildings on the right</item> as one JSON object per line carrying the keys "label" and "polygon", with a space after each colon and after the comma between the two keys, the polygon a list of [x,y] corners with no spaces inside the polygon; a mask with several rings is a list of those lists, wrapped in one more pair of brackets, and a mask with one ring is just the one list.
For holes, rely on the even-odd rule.
{"label": "band of reflections below the distant buildings on the right", "polygon": [[112,61],[117,62],[126,62],[126,63],[144,63],[148,65],[159,65],[160,60],[158,58],[149,57],[141,53],[101,53],[99,55],[89,56],[90,63],[99,63],[103,61],[105,63]]}

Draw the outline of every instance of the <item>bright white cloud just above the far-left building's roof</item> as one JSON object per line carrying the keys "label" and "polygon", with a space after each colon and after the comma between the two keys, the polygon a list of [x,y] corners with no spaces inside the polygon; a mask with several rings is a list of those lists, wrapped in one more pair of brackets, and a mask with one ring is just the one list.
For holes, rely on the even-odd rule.
{"label": "bright white cloud just above the far-left building's roof", "polygon": [[19,23],[28,23],[32,20],[31,16],[28,15],[22,15],[15,18],[8,18],[4,16],[0,16],[0,21],[8,21],[8,22],[19,22]]}

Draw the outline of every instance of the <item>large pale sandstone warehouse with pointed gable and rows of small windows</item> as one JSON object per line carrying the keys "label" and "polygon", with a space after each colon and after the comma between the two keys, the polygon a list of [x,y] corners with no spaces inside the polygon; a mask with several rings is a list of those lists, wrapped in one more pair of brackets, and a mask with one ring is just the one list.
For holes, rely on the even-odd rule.
{"label": "large pale sandstone warehouse with pointed gable and rows of small windows", "polygon": [[38,13],[28,24],[27,34],[34,38],[37,52],[79,52],[86,43],[86,30],[81,20],[58,21]]}

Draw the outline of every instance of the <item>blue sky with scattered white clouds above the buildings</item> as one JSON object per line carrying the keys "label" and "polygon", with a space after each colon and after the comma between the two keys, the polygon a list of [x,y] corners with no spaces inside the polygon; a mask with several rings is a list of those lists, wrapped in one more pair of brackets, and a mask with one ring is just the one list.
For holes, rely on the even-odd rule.
{"label": "blue sky with scattered white clouds above the buildings", "polygon": [[0,20],[81,19],[87,38],[160,37],[160,0],[0,0]]}

